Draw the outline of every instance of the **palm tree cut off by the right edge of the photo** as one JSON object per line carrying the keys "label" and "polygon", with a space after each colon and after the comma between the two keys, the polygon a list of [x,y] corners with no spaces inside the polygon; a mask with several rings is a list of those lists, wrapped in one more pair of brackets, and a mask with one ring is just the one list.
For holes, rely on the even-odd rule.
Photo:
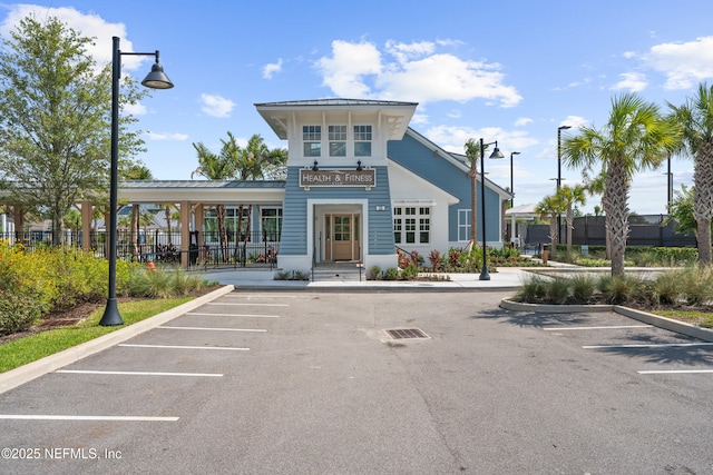
{"label": "palm tree cut off by the right edge of the photo", "polygon": [[699,93],[675,107],[673,117],[681,125],[678,151],[693,156],[693,216],[697,225],[699,266],[711,265],[711,220],[713,218],[713,86],[699,85]]}

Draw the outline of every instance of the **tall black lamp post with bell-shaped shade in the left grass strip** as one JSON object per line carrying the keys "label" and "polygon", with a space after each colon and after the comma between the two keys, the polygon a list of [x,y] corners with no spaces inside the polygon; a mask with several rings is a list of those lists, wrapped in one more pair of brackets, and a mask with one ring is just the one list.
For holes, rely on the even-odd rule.
{"label": "tall black lamp post with bell-shaped shade in the left grass strip", "polygon": [[111,55],[111,169],[110,169],[110,188],[109,188],[109,297],[104,316],[99,320],[99,325],[123,325],[124,320],[119,314],[119,307],[116,303],[116,224],[117,224],[117,196],[119,188],[119,79],[121,77],[121,56],[154,56],[156,62],[152,67],[152,72],[141,81],[147,88],[152,89],[170,89],[174,83],[164,73],[164,68],[158,63],[158,50],[155,52],[121,52],[119,50],[119,38],[113,38]]}

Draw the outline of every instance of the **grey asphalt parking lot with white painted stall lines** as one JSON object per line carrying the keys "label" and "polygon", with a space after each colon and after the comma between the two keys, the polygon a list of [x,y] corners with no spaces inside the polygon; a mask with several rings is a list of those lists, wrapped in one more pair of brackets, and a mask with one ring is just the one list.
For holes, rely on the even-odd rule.
{"label": "grey asphalt parking lot with white painted stall lines", "polygon": [[0,473],[713,473],[711,344],[508,295],[231,293],[0,394]]}

